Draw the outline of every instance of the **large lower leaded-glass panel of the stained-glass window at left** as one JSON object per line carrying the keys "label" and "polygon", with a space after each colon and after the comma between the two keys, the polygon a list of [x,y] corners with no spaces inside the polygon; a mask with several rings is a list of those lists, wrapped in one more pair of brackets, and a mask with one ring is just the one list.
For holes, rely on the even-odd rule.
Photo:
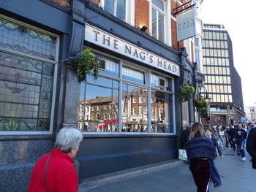
{"label": "large lower leaded-glass panel of the stained-glass window at left", "polygon": [[54,66],[0,52],[0,131],[49,131]]}

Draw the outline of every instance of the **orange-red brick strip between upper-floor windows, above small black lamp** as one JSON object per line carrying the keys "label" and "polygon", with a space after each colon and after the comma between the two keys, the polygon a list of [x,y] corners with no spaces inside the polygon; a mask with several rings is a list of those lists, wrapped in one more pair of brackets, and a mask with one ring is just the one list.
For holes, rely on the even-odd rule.
{"label": "orange-red brick strip between upper-floor windows, above small black lamp", "polygon": [[149,34],[149,3],[146,0],[135,0],[135,28],[146,26]]}

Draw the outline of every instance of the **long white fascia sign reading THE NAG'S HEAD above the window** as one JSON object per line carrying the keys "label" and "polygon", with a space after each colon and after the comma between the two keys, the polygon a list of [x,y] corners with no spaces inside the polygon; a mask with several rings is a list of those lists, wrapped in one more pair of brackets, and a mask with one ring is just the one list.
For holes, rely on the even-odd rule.
{"label": "long white fascia sign reading THE NAG'S HEAD above the window", "polygon": [[144,64],[162,69],[170,74],[180,75],[178,64],[174,64],[172,61],[168,61],[165,58],[159,57],[158,55],[148,52],[147,50],[133,45],[121,38],[108,34],[102,29],[91,26],[88,23],[86,23],[85,39],[88,42],[105,47],[108,50],[113,50],[121,55],[126,55],[127,57],[143,62]]}

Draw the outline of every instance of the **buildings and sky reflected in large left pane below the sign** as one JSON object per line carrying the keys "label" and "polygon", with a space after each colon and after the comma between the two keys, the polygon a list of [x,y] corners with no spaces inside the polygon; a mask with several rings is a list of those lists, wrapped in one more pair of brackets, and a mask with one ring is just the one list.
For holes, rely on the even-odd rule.
{"label": "buildings and sky reflected in large left pane below the sign", "polygon": [[[98,80],[82,82],[80,88],[80,109],[78,128],[88,132],[118,131],[118,82],[98,77]],[[81,107],[82,106],[82,107]]]}

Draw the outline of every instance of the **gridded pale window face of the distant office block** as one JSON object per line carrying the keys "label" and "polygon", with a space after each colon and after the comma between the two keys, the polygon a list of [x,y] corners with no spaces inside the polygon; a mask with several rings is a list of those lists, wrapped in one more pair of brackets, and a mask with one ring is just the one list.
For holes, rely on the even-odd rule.
{"label": "gridded pale window face of the distant office block", "polygon": [[232,103],[227,31],[203,31],[203,74],[213,103]]}

